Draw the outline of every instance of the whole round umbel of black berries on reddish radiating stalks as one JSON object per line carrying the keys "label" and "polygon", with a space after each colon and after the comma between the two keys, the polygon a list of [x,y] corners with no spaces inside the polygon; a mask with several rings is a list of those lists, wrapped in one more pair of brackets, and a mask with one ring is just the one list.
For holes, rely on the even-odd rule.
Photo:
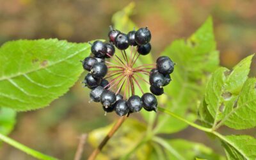
{"label": "whole round umbel of black berries on reddish radiating stalks", "polygon": [[141,109],[157,111],[156,96],[172,81],[175,63],[168,56],[160,56],[152,64],[138,63],[152,48],[147,27],[123,33],[110,26],[108,38],[109,42],[90,43],[92,54],[82,61],[88,71],[83,83],[91,90],[90,101],[99,102],[105,114],[115,111],[118,116]]}

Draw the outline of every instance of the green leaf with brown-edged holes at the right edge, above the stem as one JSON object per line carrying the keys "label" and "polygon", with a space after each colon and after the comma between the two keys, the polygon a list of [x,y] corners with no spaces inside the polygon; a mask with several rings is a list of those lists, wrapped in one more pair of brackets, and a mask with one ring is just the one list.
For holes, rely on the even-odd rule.
{"label": "green leaf with brown-edged holes at the right edge, above the stem", "polygon": [[256,80],[248,79],[252,56],[233,68],[219,68],[207,84],[205,103],[211,113],[213,129],[225,124],[234,129],[256,126]]}

